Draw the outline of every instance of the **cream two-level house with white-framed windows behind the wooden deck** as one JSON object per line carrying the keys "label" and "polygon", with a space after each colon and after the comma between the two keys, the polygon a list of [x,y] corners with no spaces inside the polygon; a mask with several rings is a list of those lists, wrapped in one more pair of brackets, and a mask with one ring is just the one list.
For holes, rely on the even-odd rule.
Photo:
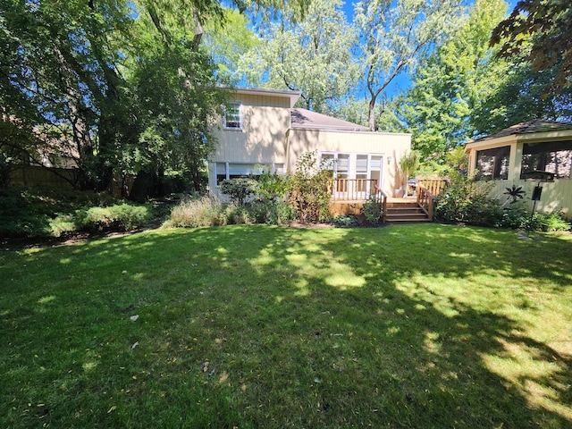
{"label": "cream two-level house with white-framed windows behind the wooden deck", "polygon": [[220,196],[224,179],[296,171],[299,156],[316,151],[332,160],[332,198],[364,200],[374,185],[393,196],[400,188],[397,166],[411,135],[370,132],[366,127],[294,108],[300,93],[239,88],[216,130],[217,147],[208,163],[209,189]]}

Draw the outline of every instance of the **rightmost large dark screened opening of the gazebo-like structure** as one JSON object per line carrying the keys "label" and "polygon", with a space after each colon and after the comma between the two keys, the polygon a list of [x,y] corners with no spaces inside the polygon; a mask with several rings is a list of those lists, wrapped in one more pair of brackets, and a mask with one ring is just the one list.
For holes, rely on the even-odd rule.
{"label": "rightmost large dark screened opening of the gazebo-like structure", "polygon": [[525,143],[521,179],[527,172],[552,172],[557,179],[570,179],[572,141]]}

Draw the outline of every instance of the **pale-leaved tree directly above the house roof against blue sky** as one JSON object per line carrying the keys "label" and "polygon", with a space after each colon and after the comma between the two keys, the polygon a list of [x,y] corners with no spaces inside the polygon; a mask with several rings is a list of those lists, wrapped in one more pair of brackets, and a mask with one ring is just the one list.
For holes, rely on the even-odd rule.
{"label": "pale-leaved tree directly above the house roof against blue sky", "polygon": [[[264,43],[243,56],[242,71],[250,81],[269,88],[299,90],[299,105],[327,113],[354,86],[353,33],[341,0],[315,0],[305,18],[291,13],[268,25]],[[256,72],[253,72],[256,70]]]}

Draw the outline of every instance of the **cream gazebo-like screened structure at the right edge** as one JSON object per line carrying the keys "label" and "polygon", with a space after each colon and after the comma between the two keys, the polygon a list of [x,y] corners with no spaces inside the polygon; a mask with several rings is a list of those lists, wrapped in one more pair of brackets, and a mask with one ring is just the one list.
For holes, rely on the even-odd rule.
{"label": "cream gazebo-like screened structure at the right edge", "polygon": [[[536,211],[561,211],[572,220],[572,122],[518,123],[469,141],[465,153],[469,174],[476,172],[477,180],[492,180],[494,195],[500,197],[506,188],[516,185],[531,201],[534,188],[540,186],[543,190]],[[530,204],[532,207],[532,201]]]}

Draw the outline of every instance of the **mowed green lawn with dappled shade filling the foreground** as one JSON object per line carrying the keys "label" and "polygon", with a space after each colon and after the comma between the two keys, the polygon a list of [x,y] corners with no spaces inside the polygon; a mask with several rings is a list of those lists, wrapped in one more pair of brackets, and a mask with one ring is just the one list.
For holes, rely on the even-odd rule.
{"label": "mowed green lawn with dappled shade filling the foreground", "polygon": [[4,249],[0,426],[571,427],[571,256],[437,224]]}

